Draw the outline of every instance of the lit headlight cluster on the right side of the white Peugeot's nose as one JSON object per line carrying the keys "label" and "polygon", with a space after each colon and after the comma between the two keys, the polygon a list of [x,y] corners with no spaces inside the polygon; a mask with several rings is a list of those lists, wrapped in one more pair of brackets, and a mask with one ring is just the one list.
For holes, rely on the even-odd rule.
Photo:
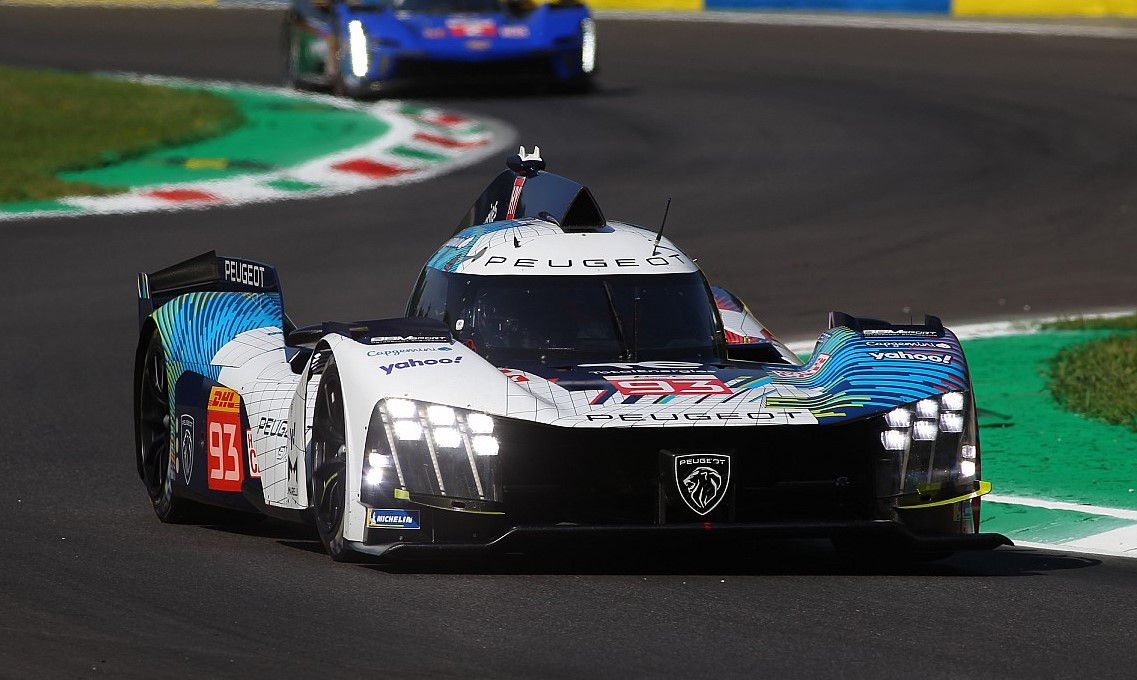
{"label": "lit headlight cluster on the right side of the white Peugeot's nose", "polygon": [[969,393],[920,399],[894,408],[882,420],[880,443],[891,454],[882,491],[926,495],[929,489],[974,480],[979,456]]}

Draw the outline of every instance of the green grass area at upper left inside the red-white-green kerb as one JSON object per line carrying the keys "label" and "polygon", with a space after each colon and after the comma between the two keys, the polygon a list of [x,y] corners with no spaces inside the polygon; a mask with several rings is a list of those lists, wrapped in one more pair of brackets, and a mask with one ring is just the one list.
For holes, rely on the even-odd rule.
{"label": "green grass area at upper left inside the red-white-green kerb", "polygon": [[64,182],[144,151],[223,134],[242,123],[224,98],[89,75],[0,67],[0,202],[115,193]]}

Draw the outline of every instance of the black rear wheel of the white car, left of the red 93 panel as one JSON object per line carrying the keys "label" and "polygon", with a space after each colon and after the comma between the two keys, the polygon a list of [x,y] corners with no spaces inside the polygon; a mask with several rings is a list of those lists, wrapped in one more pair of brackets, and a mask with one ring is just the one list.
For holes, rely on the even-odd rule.
{"label": "black rear wheel of the white car, left of the red 93 panel", "polygon": [[197,505],[174,496],[171,474],[174,466],[171,441],[169,380],[166,351],[157,331],[150,337],[142,363],[142,380],[138,398],[139,470],[153,512],[163,522],[185,522],[192,519]]}

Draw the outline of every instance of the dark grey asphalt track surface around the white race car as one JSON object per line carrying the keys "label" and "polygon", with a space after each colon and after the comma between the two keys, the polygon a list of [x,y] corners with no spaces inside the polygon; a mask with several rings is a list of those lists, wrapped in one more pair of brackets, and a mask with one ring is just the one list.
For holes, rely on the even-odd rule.
{"label": "dark grey asphalt track surface around the white race car", "polygon": [[[0,7],[0,64],[279,81],[263,10]],[[445,97],[655,224],[785,337],[1129,307],[1137,43],[600,22],[590,97]],[[472,96],[476,94],[476,96]],[[0,102],[2,106],[2,102]],[[2,150],[0,150],[2,152]],[[0,225],[0,677],[1131,678],[1137,562],[815,544],[339,565],[161,525],[135,478],[134,273],[276,264],[301,323],[396,315],[497,163],[327,201]]]}

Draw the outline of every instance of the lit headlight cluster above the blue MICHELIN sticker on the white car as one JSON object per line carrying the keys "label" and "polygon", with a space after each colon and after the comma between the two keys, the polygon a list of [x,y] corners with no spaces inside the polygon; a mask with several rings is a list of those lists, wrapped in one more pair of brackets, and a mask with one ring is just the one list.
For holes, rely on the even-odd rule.
{"label": "lit headlight cluster above the blue MICHELIN sticker on the white car", "polygon": [[367,426],[364,491],[499,500],[493,417],[441,404],[384,399]]}

